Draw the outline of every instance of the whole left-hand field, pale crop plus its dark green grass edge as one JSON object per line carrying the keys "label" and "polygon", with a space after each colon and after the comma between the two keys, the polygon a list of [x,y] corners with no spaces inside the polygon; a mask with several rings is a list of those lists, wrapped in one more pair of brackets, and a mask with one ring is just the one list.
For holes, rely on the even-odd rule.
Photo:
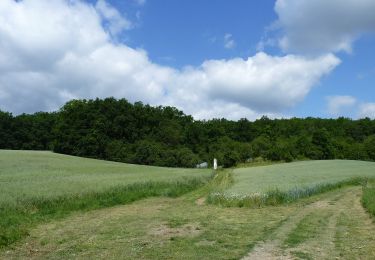
{"label": "whole left-hand field, pale crop plus its dark green grass edge", "polygon": [[0,163],[0,247],[26,236],[38,223],[74,211],[151,196],[177,197],[211,178],[208,170],[127,165],[49,152],[0,151]]}

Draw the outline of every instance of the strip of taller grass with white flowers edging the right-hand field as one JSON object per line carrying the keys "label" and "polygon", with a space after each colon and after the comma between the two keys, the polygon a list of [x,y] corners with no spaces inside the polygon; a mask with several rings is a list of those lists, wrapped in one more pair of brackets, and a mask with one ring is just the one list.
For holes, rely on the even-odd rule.
{"label": "strip of taller grass with white flowers edging the right-hand field", "polygon": [[306,188],[294,188],[289,191],[279,189],[269,190],[264,193],[253,193],[250,195],[228,194],[225,192],[212,192],[207,197],[207,202],[226,207],[249,207],[259,208],[262,206],[275,206],[280,204],[291,203],[301,198],[307,198],[312,195],[324,193],[345,186],[363,185],[367,178],[352,178],[349,180],[317,184]]}

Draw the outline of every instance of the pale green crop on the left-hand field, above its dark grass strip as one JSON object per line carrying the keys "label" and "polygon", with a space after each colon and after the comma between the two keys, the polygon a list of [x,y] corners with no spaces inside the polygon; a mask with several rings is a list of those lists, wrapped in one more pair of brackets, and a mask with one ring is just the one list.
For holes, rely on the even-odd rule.
{"label": "pale green crop on the left-hand field, above its dark grass strip", "polygon": [[207,177],[210,170],[162,168],[39,151],[0,151],[0,205],[103,192],[145,182]]}

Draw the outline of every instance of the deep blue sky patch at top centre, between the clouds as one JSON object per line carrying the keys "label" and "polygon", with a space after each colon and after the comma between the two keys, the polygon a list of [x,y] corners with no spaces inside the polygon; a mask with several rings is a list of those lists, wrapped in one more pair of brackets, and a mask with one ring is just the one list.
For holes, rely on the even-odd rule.
{"label": "deep blue sky patch at top centre, between the clouds", "polygon": [[[140,27],[125,37],[131,46],[145,48],[152,60],[176,67],[246,58],[256,53],[264,28],[275,20],[273,5],[270,0],[148,1],[138,10]],[[232,49],[224,47],[226,34],[235,41]]]}

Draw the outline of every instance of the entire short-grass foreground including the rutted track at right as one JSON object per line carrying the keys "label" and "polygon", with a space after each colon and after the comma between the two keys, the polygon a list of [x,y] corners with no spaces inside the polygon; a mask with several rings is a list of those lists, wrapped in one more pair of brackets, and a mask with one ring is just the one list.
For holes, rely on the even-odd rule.
{"label": "entire short-grass foreground including the rutted track at right", "polygon": [[361,194],[346,187],[255,209],[211,205],[199,192],[148,198],[38,225],[0,259],[375,259]]}

